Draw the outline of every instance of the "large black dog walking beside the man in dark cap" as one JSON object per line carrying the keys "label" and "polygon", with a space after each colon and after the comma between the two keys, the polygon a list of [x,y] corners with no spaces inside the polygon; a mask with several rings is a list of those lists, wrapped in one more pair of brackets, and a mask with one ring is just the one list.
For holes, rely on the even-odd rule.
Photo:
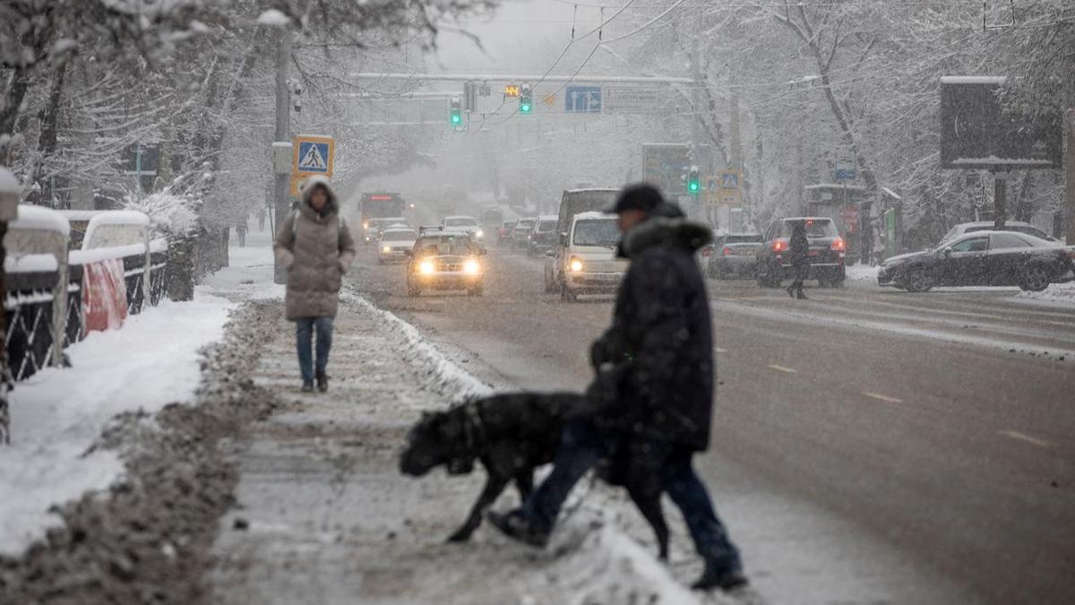
{"label": "large black dog walking beside the man in dark cap", "polygon": [[[586,397],[577,393],[508,393],[422,413],[407,436],[400,470],[420,477],[445,465],[449,474],[462,475],[474,468],[475,459],[482,461],[487,473],[485,489],[467,521],[448,536],[448,541],[465,541],[482,523],[485,509],[512,480],[522,500],[530,495],[534,468],[553,462],[564,421],[585,406]],[[603,477],[612,476],[615,484],[627,488],[657,534],[660,558],[666,559],[669,530],[661,512],[660,480],[644,464],[633,464],[633,456],[616,458]]]}

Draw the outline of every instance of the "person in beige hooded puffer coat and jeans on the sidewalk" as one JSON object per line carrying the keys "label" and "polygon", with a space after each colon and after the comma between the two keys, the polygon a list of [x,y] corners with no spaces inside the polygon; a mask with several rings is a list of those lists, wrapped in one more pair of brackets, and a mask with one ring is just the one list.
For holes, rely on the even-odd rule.
{"label": "person in beige hooded puffer coat and jeans on the sidewalk", "polygon": [[[332,322],[340,302],[343,275],[355,261],[355,241],[340,215],[335,193],[324,177],[311,177],[302,187],[298,209],[281,221],[273,244],[287,268],[287,319],[296,322],[302,391],[329,388],[326,370],[332,347]],[[313,336],[317,333],[316,364]]]}

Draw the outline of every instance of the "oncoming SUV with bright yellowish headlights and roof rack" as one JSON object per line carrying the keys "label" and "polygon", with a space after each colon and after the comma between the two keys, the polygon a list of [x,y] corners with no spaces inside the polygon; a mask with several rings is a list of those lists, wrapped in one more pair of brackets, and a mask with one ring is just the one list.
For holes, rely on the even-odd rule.
{"label": "oncoming SUV with bright yellowish headlights and roof rack", "polygon": [[429,229],[421,231],[407,253],[407,296],[426,290],[464,290],[481,296],[485,248],[465,231]]}

